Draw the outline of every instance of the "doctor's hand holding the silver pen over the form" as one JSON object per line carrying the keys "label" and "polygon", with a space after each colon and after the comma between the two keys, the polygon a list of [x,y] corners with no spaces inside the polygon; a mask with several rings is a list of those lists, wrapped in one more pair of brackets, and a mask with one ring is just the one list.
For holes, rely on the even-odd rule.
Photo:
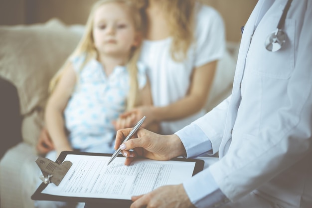
{"label": "doctor's hand holding the silver pen over the form", "polygon": [[132,139],[122,144],[131,130],[132,128],[121,129],[116,135],[114,148],[117,150],[120,147],[122,154],[127,157],[125,165],[130,165],[136,157],[164,161],[186,155],[177,135],[159,135],[144,128],[140,128]]}

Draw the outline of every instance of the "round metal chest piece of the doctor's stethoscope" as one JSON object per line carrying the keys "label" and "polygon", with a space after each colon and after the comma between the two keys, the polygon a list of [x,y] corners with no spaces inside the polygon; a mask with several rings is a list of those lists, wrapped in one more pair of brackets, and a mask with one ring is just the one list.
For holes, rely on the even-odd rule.
{"label": "round metal chest piece of the doctor's stethoscope", "polygon": [[282,48],[286,42],[286,34],[282,29],[272,32],[266,39],[264,45],[267,50],[275,52]]}

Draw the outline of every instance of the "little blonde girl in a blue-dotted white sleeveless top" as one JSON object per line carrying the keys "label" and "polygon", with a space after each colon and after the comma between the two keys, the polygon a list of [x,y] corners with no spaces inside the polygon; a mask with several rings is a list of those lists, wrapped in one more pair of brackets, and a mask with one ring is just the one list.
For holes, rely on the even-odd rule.
{"label": "little blonde girl in a blue-dotted white sleeveless top", "polygon": [[50,83],[45,122],[57,155],[112,153],[112,122],[126,109],[152,105],[145,67],[138,63],[141,21],[128,0],[93,6],[80,43]]}

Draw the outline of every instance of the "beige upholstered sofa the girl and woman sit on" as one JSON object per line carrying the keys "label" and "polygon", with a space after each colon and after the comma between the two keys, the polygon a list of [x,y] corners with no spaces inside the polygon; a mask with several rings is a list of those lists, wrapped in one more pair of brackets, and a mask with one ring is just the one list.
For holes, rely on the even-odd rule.
{"label": "beige upholstered sofa the girl and woman sit on", "polygon": [[[0,207],[33,208],[40,173],[35,145],[48,83],[79,42],[83,25],[59,19],[0,26]],[[227,44],[205,106],[209,111],[231,92],[238,43]]]}

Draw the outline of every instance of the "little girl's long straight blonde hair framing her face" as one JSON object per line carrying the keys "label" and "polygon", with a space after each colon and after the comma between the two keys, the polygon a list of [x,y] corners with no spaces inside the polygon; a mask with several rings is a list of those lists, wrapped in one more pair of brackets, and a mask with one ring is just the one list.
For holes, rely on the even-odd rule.
{"label": "little girl's long straight blonde hair framing her face", "polygon": [[[54,77],[51,79],[51,82],[49,84],[49,92],[52,92],[59,81],[60,77],[62,76],[64,72],[64,68],[68,67],[70,64],[71,57],[79,56],[82,54],[85,54],[84,62],[80,66],[80,70],[83,68],[83,66],[92,58],[96,58],[98,56],[98,51],[95,48],[94,40],[93,40],[93,24],[94,24],[94,13],[95,10],[105,4],[110,2],[117,2],[117,3],[123,3],[127,5],[129,8],[129,14],[131,14],[135,30],[136,32],[142,33],[142,16],[138,10],[138,8],[129,0],[99,0],[97,1],[91,9],[91,12],[89,14],[84,34],[78,43],[77,47],[73,51],[73,53],[67,58],[63,66],[59,69],[59,71],[54,75]],[[127,99],[127,109],[131,109],[137,104],[137,97],[138,97],[138,79],[137,79],[137,73],[138,73],[138,66],[137,62],[140,57],[140,51],[141,51],[141,44],[139,44],[136,47],[132,47],[130,51],[129,60],[127,62],[127,70],[130,75],[130,92],[128,94]],[[78,78],[78,77],[77,77]]]}

